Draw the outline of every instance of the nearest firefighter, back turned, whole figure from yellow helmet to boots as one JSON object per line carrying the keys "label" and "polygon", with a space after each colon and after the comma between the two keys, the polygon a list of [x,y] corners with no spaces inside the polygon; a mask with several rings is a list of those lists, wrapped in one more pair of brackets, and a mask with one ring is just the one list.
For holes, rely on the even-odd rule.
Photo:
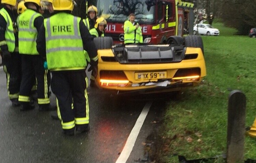
{"label": "nearest firefighter, back turned, whole figure from yellow helmet to boots", "polygon": [[52,74],[51,89],[57,98],[63,132],[72,136],[75,128],[80,133],[89,130],[84,50],[90,55],[90,64],[95,72],[98,55],[93,37],[83,21],[71,15],[73,1],[54,0],[53,8],[55,14],[44,20],[38,33],[37,50],[46,58],[45,68]]}

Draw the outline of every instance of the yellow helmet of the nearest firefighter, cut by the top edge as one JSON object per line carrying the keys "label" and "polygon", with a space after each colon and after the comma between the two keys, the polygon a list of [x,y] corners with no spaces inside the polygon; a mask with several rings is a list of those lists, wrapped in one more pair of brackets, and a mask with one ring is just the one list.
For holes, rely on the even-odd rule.
{"label": "yellow helmet of the nearest firefighter, cut by the top edge", "polygon": [[52,2],[53,10],[70,10],[74,9],[73,0],[54,0]]}

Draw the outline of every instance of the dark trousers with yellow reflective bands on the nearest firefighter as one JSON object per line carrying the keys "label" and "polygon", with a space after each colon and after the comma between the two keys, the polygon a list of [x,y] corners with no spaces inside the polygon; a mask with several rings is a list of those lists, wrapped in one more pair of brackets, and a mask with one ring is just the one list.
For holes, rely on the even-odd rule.
{"label": "dark trousers with yellow reflective bands on the nearest firefighter", "polygon": [[51,90],[56,95],[62,129],[89,124],[89,103],[85,70],[52,71]]}

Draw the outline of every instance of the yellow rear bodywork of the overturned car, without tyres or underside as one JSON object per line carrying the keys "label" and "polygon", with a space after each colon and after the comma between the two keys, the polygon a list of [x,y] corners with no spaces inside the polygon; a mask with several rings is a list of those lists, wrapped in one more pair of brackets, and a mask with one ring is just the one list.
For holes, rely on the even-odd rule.
{"label": "yellow rear bodywork of the overturned car, without tyres or underside", "polygon": [[[148,89],[148,92],[171,92],[177,91],[182,89],[184,85],[186,86],[196,86],[198,85],[203,77],[206,76],[206,66],[205,66],[205,58],[201,48],[194,48],[194,47],[186,47],[185,56],[195,55],[197,54],[196,58],[192,59],[183,59],[180,62],[170,62],[170,63],[139,63],[139,64],[124,64],[119,62],[110,62],[102,60],[102,57],[115,57],[114,51],[112,49],[99,49],[98,56],[99,56],[99,64],[98,64],[98,76],[96,78],[97,85],[102,89],[109,89],[115,91],[136,91],[136,90],[144,90]],[[190,70],[190,69],[200,69],[198,72],[198,77],[196,79],[178,79],[175,80],[175,74],[179,69],[182,70]],[[101,79],[106,79],[105,77],[101,76],[101,71],[122,71],[128,83],[124,86],[117,86],[117,85],[108,85],[103,84]],[[184,71],[184,72],[185,72]],[[152,72],[151,75],[156,75],[157,73],[165,73],[163,79],[144,79],[138,80],[135,77],[135,73],[142,73],[143,72]],[[148,73],[146,73],[148,74]],[[141,74],[140,74],[141,75]],[[192,75],[192,74],[191,74]],[[138,76],[138,74],[137,74]],[[137,77],[138,78],[138,77]],[[161,83],[166,81],[168,84],[164,84],[164,86],[159,86],[157,83]]]}

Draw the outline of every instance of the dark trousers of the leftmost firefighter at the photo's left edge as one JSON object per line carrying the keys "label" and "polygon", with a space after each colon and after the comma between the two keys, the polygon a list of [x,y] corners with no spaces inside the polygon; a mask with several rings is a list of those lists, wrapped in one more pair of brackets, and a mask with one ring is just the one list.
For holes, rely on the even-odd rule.
{"label": "dark trousers of the leftmost firefighter at the photo's left edge", "polygon": [[18,98],[22,77],[21,56],[19,52],[11,53],[11,58],[3,65],[3,70],[6,74],[6,86],[9,98]]}

